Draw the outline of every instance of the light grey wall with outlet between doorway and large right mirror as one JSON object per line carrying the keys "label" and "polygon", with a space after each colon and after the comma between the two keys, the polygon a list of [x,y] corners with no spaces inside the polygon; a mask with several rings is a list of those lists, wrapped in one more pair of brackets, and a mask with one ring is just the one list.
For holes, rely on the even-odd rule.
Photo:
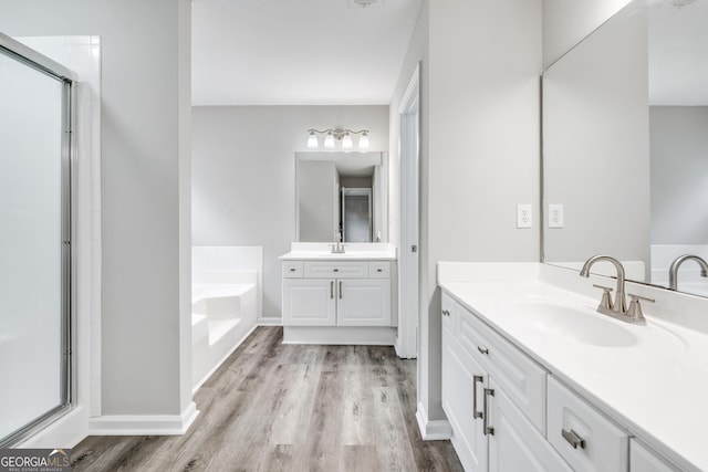
{"label": "light grey wall with outlet between doorway and large right mirror", "polygon": [[[397,111],[418,61],[418,400],[427,417],[437,420],[445,415],[436,263],[538,261],[540,256],[540,0],[424,2],[391,106],[392,214],[398,214],[400,204]],[[534,206],[534,229],[516,228],[517,203]],[[392,224],[392,237],[399,234],[399,227]]]}

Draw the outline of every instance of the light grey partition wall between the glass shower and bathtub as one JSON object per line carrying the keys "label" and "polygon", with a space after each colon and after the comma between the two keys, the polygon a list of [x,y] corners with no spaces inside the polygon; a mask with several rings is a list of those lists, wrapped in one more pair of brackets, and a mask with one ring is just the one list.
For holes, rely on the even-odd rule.
{"label": "light grey partition wall between the glass shower and bathtub", "polygon": [[6,2],[0,15],[9,35],[101,36],[104,415],[178,416],[190,403],[180,306],[189,286],[179,274],[190,245],[179,213],[179,180],[189,171],[179,139],[189,42],[179,20],[189,8],[187,0],[38,0]]}

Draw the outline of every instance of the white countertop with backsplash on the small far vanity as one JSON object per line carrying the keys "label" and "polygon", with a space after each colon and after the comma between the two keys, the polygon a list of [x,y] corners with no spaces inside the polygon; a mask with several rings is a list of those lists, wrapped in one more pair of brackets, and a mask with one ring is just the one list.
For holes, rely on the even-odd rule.
{"label": "white countertop with backsplash on the small far vanity", "polygon": [[333,253],[332,242],[293,242],[289,253],[281,255],[283,261],[395,261],[396,247],[386,242],[344,243],[344,253]]}

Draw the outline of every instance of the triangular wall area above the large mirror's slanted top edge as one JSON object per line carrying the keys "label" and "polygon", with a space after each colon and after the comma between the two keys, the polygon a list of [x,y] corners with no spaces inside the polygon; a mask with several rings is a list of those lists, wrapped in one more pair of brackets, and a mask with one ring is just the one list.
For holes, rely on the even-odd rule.
{"label": "triangular wall area above the large mirror's slanted top edge", "polygon": [[543,69],[629,3],[629,0],[542,1]]}

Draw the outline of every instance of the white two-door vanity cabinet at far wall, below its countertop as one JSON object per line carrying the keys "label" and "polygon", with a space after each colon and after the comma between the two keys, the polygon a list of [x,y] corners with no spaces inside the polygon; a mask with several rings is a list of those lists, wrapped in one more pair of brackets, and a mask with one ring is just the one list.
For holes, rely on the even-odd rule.
{"label": "white two-door vanity cabinet at far wall, below its countertop", "polygon": [[389,326],[389,261],[283,261],[283,326]]}

